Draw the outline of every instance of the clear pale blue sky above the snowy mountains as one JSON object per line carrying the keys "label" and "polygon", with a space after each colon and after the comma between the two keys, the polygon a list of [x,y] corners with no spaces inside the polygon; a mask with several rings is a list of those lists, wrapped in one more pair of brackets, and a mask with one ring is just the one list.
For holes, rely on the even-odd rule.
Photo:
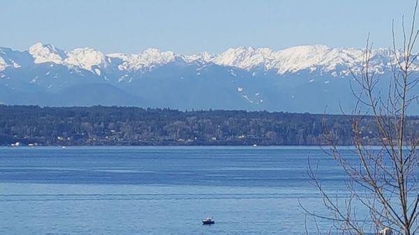
{"label": "clear pale blue sky above the snowy mountains", "polygon": [[411,16],[414,0],[0,0],[0,47],[50,43],[136,53],[181,54],[228,47],[391,43],[391,22]]}

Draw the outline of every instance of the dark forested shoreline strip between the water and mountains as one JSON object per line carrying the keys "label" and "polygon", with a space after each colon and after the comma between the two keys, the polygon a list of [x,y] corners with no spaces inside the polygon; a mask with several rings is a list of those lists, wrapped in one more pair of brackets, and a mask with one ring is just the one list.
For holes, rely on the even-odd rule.
{"label": "dark forested shoreline strip between the water and mountains", "polygon": [[[362,120],[361,137],[378,144],[374,119]],[[417,132],[419,117],[409,125]],[[0,105],[0,145],[324,145],[326,129],[352,144],[343,115]]]}

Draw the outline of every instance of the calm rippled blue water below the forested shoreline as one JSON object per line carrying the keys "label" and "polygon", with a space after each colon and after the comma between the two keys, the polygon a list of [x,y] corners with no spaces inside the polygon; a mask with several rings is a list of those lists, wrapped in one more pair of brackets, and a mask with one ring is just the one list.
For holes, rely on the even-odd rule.
{"label": "calm rippled blue water below the forested shoreline", "polygon": [[339,195],[316,147],[3,147],[0,234],[304,234],[308,158]]}

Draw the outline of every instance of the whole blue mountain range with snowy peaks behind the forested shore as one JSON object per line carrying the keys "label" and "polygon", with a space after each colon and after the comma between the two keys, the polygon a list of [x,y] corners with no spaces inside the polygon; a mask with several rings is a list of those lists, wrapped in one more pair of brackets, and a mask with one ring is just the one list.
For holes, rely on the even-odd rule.
{"label": "whole blue mountain range with snowy peaks behind the forested shore", "polygon": [[[374,50],[378,89],[389,82],[390,61],[388,51]],[[24,52],[0,48],[0,103],[340,113],[355,104],[350,70],[359,73],[361,63],[362,50],[322,45],[184,56],[66,52],[37,43]],[[418,105],[411,112],[419,113]]]}

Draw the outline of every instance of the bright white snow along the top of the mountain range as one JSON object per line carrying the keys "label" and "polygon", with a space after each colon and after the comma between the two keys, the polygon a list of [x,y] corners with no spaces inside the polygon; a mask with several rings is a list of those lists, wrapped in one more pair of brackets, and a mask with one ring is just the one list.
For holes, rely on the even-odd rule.
{"label": "bright white snow along the top of the mountain range", "polygon": [[[29,48],[29,54],[34,58],[34,63],[57,63],[69,68],[82,68],[92,73],[100,74],[97,68],[105,68],[110,63],[113,68],[121,71],[142,72],[162,66],[176,58],[185,63],[200,61],[201,64],[214,63],[220,66],[231,66],[251,70],[263,68],[274,70],[279,75],[284,73],[296,73],[299,70],[317,70],[323,72],[337,72],[335,74],[348,75],[349,68],[354,71],[360,69],[364,56],[363,50],[355,48],[330,48],[325,45],[303,45],[289,47],[285,50],[273,51],[269,48],[237,47],[229,48],[225,52],[213,55],[201,52],[192,55],[175,54],[171,51],[162,52],[155,48],[149,48],[138,54],[103,54],[89,47],[77,48],[71,52],[59,50],[53,45],[36,43]],[[7,64],[1,61],[4,69]],[[388,50],[377,49],[372,52],[372,68],[382,73],[391,64]],[[93,68],[96,66],[95,68]]]}

